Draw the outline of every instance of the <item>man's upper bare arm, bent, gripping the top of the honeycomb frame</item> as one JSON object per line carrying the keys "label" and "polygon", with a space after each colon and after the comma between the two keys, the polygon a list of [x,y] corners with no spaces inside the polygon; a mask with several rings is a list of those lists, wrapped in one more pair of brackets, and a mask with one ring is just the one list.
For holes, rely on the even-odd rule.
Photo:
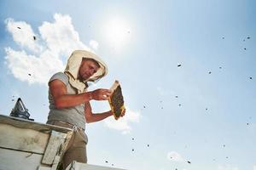
{"label": "man's upper bare arm, bent, gripping the top of the honeycomb frame", "polygon": [[102,88],[82,94],[67,94],[67,87],[60,80],[49,82],[49,89],[57,109],[84,104],[85,102],[90,101],[90,99],[106,100],[111,95],[110,90]]}

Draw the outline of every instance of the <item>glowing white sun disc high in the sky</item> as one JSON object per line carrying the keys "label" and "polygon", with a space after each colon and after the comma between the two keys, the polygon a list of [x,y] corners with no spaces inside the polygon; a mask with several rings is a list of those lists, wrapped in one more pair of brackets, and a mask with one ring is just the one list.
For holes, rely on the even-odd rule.
{"label": "glowing white sun disc high in the sky", "polygon": [[122,48],[128,42],[131,29],[127,21],[120,18],[112,18],[105,25],[107,41],[113,48]]}

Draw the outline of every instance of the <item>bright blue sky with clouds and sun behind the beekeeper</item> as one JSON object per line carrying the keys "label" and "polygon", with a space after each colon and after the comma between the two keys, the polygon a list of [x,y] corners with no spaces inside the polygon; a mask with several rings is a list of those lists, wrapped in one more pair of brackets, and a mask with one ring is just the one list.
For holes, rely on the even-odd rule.
{"label": "bright blue sky with clouds and sun behind the beekeeper", "polygon": [[3,0],[0,9],[1,114],[20,97],[46,122],[49,77],[74,49],[90,49],[109,69],[90,90],[119,80],[127,113],[87,125],[88,163],[256,169],[255,1]]}

